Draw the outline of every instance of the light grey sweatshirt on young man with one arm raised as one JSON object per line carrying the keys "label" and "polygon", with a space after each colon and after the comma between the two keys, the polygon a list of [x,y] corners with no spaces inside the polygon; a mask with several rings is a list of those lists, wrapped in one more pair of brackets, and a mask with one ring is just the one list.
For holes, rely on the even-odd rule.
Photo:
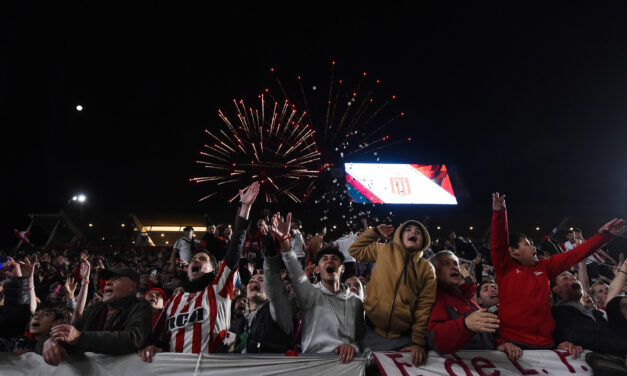
{"label": "light grey sweatshirt on young man with one arm raised", "polygon": [[332,352],[345,343],[359,351],[364,333],[364,308],[359,297],[346,285],[341,285],[338,294],[321,283],[312,285],[293,251],[282,257],[300,301],[303,353]]}

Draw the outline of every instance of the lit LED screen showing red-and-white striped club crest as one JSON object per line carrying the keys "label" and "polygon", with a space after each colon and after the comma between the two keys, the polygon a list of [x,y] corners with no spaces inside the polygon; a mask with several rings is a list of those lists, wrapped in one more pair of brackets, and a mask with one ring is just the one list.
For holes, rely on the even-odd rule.
{"label": "lit LED screen showing red-and-white striped club crest", "polygon": [[357,203],[457,205],[443,164],[345,163],[344,171]]}

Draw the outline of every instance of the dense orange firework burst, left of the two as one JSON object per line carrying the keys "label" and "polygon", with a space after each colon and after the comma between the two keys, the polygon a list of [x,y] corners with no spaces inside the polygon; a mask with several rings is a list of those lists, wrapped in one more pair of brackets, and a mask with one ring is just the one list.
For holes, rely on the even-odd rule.
{"label": "dense orange firework burst, left of the two", "polygon": [[190,181],[213,182],[216,189],[200,201],[229,184],[259,180],[266,201],[277,201],[285,195],[301,202],[296,193],[299,187],[318,177],[321,153],[314,138],[316,130],[303,121],[306,113],[299,113],[287,99],[268,104],[262,94],[259,100],[260,107],[255,109],[246,108],[243,100],[233,100],[236,120],[218,110],[223,129],[205,129],[211,143],[200,152],[205,159],[196,163],[211,174]]}

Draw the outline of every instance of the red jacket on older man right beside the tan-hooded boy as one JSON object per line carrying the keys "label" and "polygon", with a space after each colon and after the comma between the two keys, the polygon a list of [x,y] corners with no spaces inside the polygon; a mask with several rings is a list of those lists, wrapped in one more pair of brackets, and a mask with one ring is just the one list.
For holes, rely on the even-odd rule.
{"label": "red jacket on older man right beside the tan-hooded boy", "polygon": [[427,330],[429,346],[441,354],[462,350],[476,334],[466,328],[464,319],[479,309],[472,301],[477,284],[464,283],[460,289],[461,294],[438,284]]}

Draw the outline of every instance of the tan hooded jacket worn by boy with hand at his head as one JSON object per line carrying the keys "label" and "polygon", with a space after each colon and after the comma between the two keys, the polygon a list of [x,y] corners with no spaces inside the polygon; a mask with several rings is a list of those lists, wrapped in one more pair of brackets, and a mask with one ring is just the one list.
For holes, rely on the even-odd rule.
{"label": "tan hooded jacket worn by boy with hand at his head", "polygon": [[[407,225],[422,231],[418,250],[410,252],[403,246],[401,234]],[[396,229],[391,243],[376,243],[379,238],[378,230],[369,229],[349,249],[357,260],[376,263],[366,286],[366,316],[380,336],[398,338],[411,333],[412,341],[424,347],[436,295],[435,269],[422,257],[431,244],[429,233],[422,223],[407,221]]]}

